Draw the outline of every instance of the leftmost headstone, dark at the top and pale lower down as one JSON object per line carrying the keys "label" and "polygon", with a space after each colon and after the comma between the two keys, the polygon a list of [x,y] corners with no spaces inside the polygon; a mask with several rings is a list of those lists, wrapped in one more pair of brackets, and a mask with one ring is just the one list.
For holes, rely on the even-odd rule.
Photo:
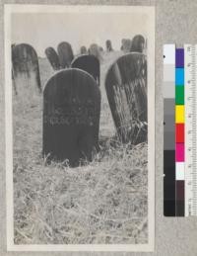
{"label": "leftmost headstone, dark at the top and pale lower down", "polygon": [[12,76],[17,94],[28,88],[41,92],[38,58],[33,46],[20,43],[12,47]]}

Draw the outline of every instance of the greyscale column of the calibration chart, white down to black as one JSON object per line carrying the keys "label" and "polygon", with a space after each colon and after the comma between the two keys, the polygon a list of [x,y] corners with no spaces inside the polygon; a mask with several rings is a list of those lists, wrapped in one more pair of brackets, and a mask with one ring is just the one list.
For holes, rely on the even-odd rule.
{"label": "greyscale column of the calibration chart, white down to black", "polygon": [[175,44],[164,44],[164,215],[175,215]]}

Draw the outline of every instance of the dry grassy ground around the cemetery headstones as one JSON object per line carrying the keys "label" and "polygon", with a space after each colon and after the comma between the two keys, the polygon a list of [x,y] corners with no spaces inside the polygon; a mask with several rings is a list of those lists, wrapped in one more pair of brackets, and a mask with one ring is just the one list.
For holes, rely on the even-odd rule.
{"label": "dry grassy ground around the cemetery headstones", "polygon": [[[100,151],[70,168],[42,158],[42,96],[13,95],[14,232],[16,244],[148,242],[147,143],[115,142],[104,89],[108,66],[122,54],[103,52],[100,65]],[[42,88],[54,73],[39,58]]]}

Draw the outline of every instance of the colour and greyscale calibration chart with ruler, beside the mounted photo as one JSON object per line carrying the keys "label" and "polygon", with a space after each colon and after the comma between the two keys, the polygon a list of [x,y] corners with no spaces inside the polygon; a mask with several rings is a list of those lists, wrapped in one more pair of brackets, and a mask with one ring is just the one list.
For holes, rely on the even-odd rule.
{"label": "colour and greyscale calibration chart with ruler, beside the mounted photo", "polygon": [[197,215],[197,45],[164,44],[164,215]]}

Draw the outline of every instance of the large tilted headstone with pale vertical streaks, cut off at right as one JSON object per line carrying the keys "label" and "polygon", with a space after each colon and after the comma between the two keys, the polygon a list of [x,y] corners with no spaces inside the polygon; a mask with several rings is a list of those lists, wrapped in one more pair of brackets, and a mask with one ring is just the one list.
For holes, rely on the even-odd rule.
{"label": "large tilted headstone with pale vertical streaks, cut off at right", "polygon": [[147,60],[141,53],[119,57],[109,68],[105,89],[117,134],[122,142],[147,139]]}

